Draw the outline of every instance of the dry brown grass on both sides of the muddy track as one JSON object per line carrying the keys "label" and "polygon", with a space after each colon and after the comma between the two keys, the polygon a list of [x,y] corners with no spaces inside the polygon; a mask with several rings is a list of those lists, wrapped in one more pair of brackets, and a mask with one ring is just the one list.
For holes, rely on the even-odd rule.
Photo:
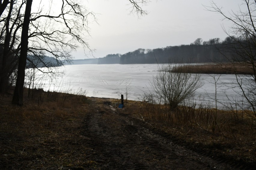
{"label": "dry brown grass on both sides of the muddy track", "polygon": [[[96,167],[87,157],[93,152],[87,147],[89,139],[81,135],[86,115],[98,110],[91,98],[41,91],[33,99],[25,98],[24,107],[10,104],[11,93],[0,99],[1,169]],[[119,100],[104,102],[115,106]],[[249,111],[178,107],[169,112],[164,105],[126,101],[123,112],[171,134],[182,145],[255,164],[255,119]]]}

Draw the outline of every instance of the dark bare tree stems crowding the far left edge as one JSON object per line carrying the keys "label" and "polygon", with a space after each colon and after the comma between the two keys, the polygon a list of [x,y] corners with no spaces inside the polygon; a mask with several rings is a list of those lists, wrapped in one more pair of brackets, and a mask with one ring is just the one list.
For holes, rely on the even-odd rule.
{"label": "dark bare tree stems crowding the far left edge", "polygon": [[2,55],[0,57],[0,92],[7,90],[9,78],[17,68],[18,49],[17,39],[20,37],[19,29],[22,27],[21,10],[25,2],[10,0],[8,10],[2,13],[0,24],[2,26],[0,45],[2,46]]}

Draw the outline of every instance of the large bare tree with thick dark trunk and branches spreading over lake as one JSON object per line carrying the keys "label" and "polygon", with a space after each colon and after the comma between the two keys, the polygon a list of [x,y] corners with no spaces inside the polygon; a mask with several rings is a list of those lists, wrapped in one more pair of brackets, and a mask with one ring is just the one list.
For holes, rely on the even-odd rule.
{"label": "large bare tree with thick dark trunk and branches spreading over lake", "polygon": [[[20,56],[13,104],[23,105],[24,72],[26,60],[29,60],[27,54],[38,59],[42,55],[50,55],[61,64],[59,59],[70,60],[72,58],[71,52],[78,47],[78,44],[93,51],[87,44],[84,34],[89,35],[88,23],[90,19],[96,19],[95,14],[88,11],[76,0],[60,1],[59,13],[52,11],[50,7],[46,12],[39,7],[38,11],[31,13],[32,0],[25,1],[25,15],[21,16],[21,20],[23,18],[21,39],[17,39],[17,49],[18,51],[20,49]],[[51,3],[53,2],[51,1]],[[131,12],[136,12],[138,15],[146,14],[147,12],[142,10],[141,6],[148,2],[148,0],[130,0]],[[52,73],[50,67],[48,68],[47,73]]]}

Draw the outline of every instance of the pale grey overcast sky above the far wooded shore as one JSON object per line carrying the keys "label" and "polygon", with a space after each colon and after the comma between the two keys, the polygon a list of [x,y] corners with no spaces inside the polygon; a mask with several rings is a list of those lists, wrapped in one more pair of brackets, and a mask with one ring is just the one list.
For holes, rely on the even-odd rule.
{"label": "pale grey overcast sky above the far wooded shore", "polygon": [[[237,11],[242,0],[213,0],[228,13]],[[209,0],[151,0],[143,9],[148,15],[138,19],[129,15],[128,0],[87,0],[87,8],[97,14],[97,23],[92,23],[88,43],[93,56],[105,57],[107,54],[124,54],[138,48],[154,49],[166,46],[190,44],[197,38],[207,41],[210,38],[224,40],[230,23],[223,17],[207,11],[203,5],[210,6]],[[87,54],[89,52],[87,51]],[[73,53],[75,59],[87,57],[82,49]]]}

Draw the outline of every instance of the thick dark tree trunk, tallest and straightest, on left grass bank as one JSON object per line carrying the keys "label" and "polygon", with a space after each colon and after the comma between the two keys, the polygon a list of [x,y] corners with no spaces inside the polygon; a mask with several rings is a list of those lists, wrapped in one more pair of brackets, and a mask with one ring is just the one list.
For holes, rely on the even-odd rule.
{"label": "thick dark tree trunk, tallest and straightest, on left grass bank", "polygon": [[15,84],[14,94],[12,98],[12,104],[23,105],[23,86],[25,79],[25,68],[28,52],[28,33],[29,33],[29,22],[31,15],[31,6],[33,0],[27,0],[23,27],[21,32],[21,46],[20,46],[20,59],[18,66],[18,75]]}

